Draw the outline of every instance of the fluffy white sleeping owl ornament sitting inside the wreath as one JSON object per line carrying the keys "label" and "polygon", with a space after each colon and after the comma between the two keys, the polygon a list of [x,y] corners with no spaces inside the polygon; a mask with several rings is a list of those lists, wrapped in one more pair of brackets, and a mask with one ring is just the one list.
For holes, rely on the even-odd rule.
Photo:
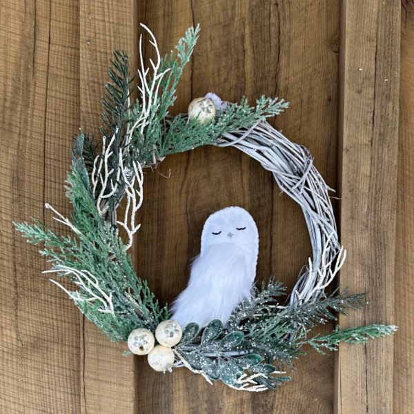
{"label": "fluffy white sleeping owl ornament sitting inside the wreath", "polygon": [[259,255],[259,232],[253,217],[241,207],[210,215],[201,234],[201,253],[190,279],[172,304],[172,317],[184,328],[213,319],[225,325],[234,308],[251,295]]}

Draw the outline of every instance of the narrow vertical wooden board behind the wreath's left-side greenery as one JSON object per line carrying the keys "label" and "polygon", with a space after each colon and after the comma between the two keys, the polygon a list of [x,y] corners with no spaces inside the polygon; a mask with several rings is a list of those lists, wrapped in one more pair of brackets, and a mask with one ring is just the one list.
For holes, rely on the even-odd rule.
{"label": "narrow vertical wooden board behind the wreath's left-side greenery", "polygon": [[[115,49],[126,50],[130,70],[137,69],[135,0],[80,1],[81,128],[100,134],[101,97]],[[81,319],[84,414],[134,412],[134,360],[122,355],[126,344],[114,344],[88,319]]]}

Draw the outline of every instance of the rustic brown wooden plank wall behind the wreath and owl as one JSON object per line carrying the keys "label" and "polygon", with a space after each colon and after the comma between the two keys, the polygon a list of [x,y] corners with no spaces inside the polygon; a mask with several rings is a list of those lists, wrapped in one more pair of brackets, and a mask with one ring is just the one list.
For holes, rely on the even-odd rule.
{"label": "rustic brown wooden plank wall behind the wreath and owl", "polygon": [[[62,230],[43,204],[70,213],[70,137],[98,130],[112,50],[128,50],[137,66],[140,21],[162,52],[201,23],[174,112],[210,91],[290,101],[274,124],[337,188],[348,250],[340,284],[368,293],[368,308],[340,324],[395,323],[395,337],[335,355],[306,349],[290,383],[239,393],[121,356],[125,344],[111,344],[41,274],[48,264],[11,221],[39,217]],[[0,51],[1,413],[414,412],[413,1],[3,0]],[[184,288],[204,221],[225,206],[257,222],[259,279],[275,273],[292,288],[311,255],[299,207],[234,148],[168,157],[146,171],[144,191],[134,259],[161,302]]]}

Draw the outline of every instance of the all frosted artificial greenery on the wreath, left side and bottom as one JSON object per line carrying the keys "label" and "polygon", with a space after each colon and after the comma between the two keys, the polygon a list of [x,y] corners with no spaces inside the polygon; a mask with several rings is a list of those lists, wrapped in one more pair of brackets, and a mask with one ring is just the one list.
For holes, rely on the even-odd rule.
{"label": "all frosted artificial greenery on the wreath, left side and bottom", "polygon": [[[34,224],[16,224],[28,241],[44,244],[40,253],[52,264],[49,272],[70,277],[76,290],[61,288],[114,342],[126,341],[135,328],[154,332],[169,316],[167,306],[161,308],[147,282],[137,277],[117,227],[117,208],[126,195],[130,202],[132,193],[127,189],[135,188],[137,166],[156,166],[166,155],[214,144],[226,132],[247,130],[287,107],[283,100],[266,97],[250,107],[243,98],[206,124],[188,120],[185,114],[171,117],[168,111],[176,99],[177,82],[198,33],[198,26],[188,29],[176,46],[177,57],[171,52],[152,63],[152,75],[141,68],[138,76],[131,77],[126,52],[115,51],[102,100],[102,138],[84,131],[76,137],[66,181],[73,213],[66,219],[54,210],[70,234],[58,236],[36,219]],[[135,93],[138,99],[133,102]],[[99,165],[104,167],[99,169]],[[204,329],[188,324],[175,346],[177,357],[208,380],[221,379],[234,388],[253,386],[260,391],[290,380],[282,372],[304,355],[305,344],[324,352],[337,349],[339,342],[364,343],[367,337],[395,331],[395,326],[384,325],[342,331],[337,326],[329,335],[309,338],[311,328],[335,320],[335,313],[364,306],[363,295],[335,291],[295,308],[279,302],[283,295],[285,288],[272,277],[261,288],[254,288],[252,297],[239,304],[226,326],[218,320]]]}

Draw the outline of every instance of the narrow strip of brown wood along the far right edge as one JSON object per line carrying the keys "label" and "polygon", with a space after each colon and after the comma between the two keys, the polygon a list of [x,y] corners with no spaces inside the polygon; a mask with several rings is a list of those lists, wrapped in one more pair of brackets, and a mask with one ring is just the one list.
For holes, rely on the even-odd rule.
{"label": "narrow strip of brown wood along the far right edge", "polygon": [[400,145],[395,252],[395,414],[414,413],[414,2],[401,9]]}

